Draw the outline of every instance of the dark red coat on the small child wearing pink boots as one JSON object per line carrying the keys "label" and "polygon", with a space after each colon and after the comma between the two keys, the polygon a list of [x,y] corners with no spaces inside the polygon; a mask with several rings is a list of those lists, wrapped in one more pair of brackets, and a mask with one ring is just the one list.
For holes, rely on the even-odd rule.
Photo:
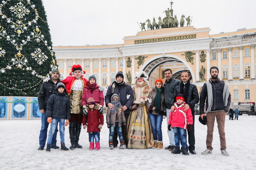
{"label": "dark red coat on the small child wearing pink boots", "polygon": [[87,132],[100,132],[99,125],[103,125],[104,116],[99,114],[99,104],[95,104],[93,109],[86,105],[87,116],[83,115],[83,126],[87,125]]}

